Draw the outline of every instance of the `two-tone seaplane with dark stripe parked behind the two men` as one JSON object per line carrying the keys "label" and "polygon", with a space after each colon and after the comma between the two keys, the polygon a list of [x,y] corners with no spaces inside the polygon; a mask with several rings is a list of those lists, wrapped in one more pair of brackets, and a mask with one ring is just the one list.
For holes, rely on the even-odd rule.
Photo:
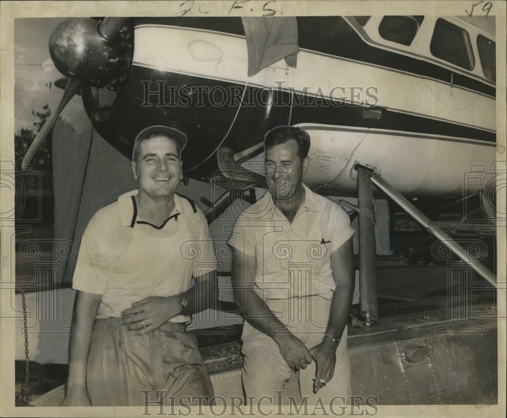
{"label": "two-tone seaplane with dark stripe parked behind the two men", "polygon": [[[184,131],[184,183],[226,189],[207,202],[212,222],[236,198],[255,199],[252,190],[263,188],[262,170],[245,167],[262,155],[264,133],[299,126],[311,137],[305,184],[325,196],[358,197],[358,204],[340,200],[359,220],[353,394],[374,395],[379,405],[498,401],[494,266],[463,243],[463,233],[474,242],[494,235],[497,218],[493,18],[70,18],[49,48],[65,76],[63,96],[24,166],[79,93],[94,132],[118,155],[130,157],[144,127]],[[443,304],[416,309],[413,299],[392,296],[396,289],[390,301],[399,304],[377,304],[372,214],[379,196],[436,235],[432,251],[445,243],[434,251],[441,264],[447,260]],[[481,215],[454,223],[430,220],[412,204],[470,196]],[[72,239],[79,243],[79,233]],[[231,338],[201,349],[215,393],[224,396],[242,391],[239,335]],[[34,404],[56,405],[62,394],[56,388]]]}

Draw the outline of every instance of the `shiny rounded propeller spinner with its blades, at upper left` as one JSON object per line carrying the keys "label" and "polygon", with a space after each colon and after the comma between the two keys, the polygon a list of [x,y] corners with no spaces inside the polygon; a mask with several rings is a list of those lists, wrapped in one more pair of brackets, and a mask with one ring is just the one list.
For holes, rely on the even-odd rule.
{"label": "shiny rounded propeller spinner with its blades, at upper left", "polygon": [[69,80],[56,112],[35,136],[21,169],[30,163],[62,110],[84,83],[103,87],[114,78],[122,55],[117,39],[127,20],[105,18],[98,23],[91,18],[70,18],[53,31],[49,40],[51,58],[58,71]]}

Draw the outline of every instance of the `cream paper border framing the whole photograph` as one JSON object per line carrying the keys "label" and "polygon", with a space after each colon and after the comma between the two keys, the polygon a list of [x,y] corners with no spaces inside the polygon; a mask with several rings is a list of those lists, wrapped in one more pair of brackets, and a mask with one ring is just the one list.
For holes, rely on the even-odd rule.
{"label": "cream paper border framing the whole photograph", "polygon": [[[195,0],[191,10],[185,16],[261,16],[263,10],[274,9],[283,11],[284,16],[291,15],[374,15],[386,14],[433,14],[433,15],[465,15],[474,3],[470,1],[267,1],[251,0],[248,8],[243,4],[241,9],[233,9],[234,0],[230,2],[206,2]],[[192,0],[190,0],[192,2]],[[239,3],[239,2],[238,2]],[[496,16],[496,124],[497,124],[497,154],[496,159],[501,161],[505,168],[505,62],[507,24],[506,5],[501,1],[493,1],[491,15]],[[182,15],[183,7],[190,6],[189,0],[128,2],[128,1],[75,1],[75,2],[12,2],[0,3],[0,153],[3,161],[14,161],[14,20],[24,17],[63,17],[63,16],[178,16]],[[251,6],[251,7],[250,7]],[[206,14],[199,12],[206,11]],[[209,12],[213,10],[213,12]],[[251,10],[251,11],[250,11]],[[230,13],[231,12],[231,13]],[[410,94],[407,92],[407,94]],[[0,213],[5,208],[14,206],[14,193],[10,190],[0,190]],[[498,199],[498,204],[505,205],[505,201]],[[505,210],[503,208],[503,213]],[[10,254],[12,252],[10,236],[14,226],[0,221],[2,236],[0,254],[2,257],[2,277],[10,273]],[[505,227],[498,230],[498,265],[497,277],[505,278],[507,252]],[[502,280],[500,280],[502,281]],[[504,280],[503,280],[504,281]],[[14,289],[11,289],[14,291]],[[498,289],[498,405],[409,405],[385,406],[379,405],[378,416],[406,417],[416,416],[505,416],[505,289]],[[15,319],[6,318],[11,309],[11,293],[4,289],[0,283],[0,332],[2,335],[0,350],[0,368],[2,381],[0,383],[0,415],[2,416],[141,416],[143,407],[15,407],[14,406],[14,349],[15,349]],[[150,411],[156,416],[158,409],[153,407]],[[208,415],[203,408],[203,413]],[[194,412],[194,411],[193,411]],[[227,416],[227,415],[225,415]]]}

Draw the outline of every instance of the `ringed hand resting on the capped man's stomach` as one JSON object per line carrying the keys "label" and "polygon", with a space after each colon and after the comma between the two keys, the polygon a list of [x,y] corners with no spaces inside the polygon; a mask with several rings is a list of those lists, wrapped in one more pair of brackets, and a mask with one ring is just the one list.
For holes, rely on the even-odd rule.
{"label": "ringed hand resting on the capped man's stomach", "polygon": [[176,296],[150,296],[132,303],[122,312],[121,325],[127,325],[136,335],[147,334],[165,324],[182,310]]}

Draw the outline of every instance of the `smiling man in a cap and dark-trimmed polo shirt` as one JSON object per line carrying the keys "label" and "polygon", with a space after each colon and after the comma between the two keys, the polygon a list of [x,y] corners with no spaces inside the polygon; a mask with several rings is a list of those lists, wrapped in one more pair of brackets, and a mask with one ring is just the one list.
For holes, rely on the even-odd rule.
{"label": "smiling man in a cap and dark-trimmed polo shirt", "polygon": [[103,207],[86,227],[73,277],[75,333],[63,406],[146,405],[158,396],[206,404],[213,396],[195,336],[180,332],[218,295],[207,222],[175,192],[186,143],[174,128],[142,130],[131,162],[139,189]]}

